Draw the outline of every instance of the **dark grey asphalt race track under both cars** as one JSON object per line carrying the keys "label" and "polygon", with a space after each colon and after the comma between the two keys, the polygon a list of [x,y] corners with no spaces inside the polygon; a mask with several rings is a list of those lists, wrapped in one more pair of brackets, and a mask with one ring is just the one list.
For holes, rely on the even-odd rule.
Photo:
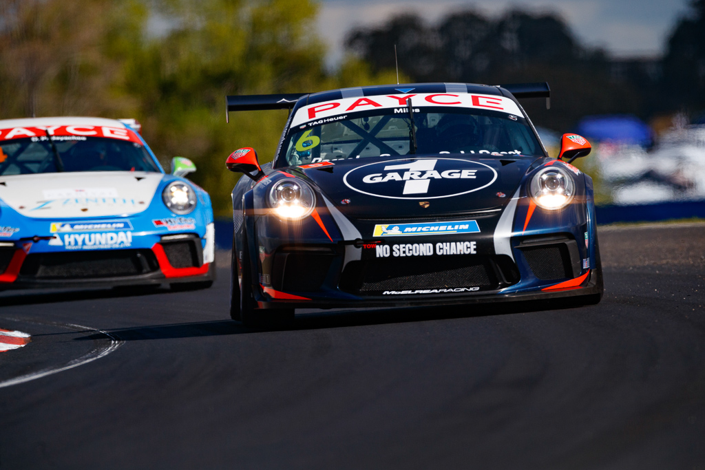
{"label": "dark grey asphalt race track under both cars", "polygon": [[197,292],[6,292],[0,328],[32,342],[0,353],[0,469],[705,469],[705,225],[599,237],[582,308],[268,331],[228,320],[225,268]]}

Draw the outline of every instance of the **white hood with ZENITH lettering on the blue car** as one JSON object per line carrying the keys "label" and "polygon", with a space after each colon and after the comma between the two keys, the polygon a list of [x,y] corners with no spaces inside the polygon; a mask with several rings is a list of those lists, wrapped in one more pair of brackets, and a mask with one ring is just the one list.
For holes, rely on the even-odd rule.
{"label": "white hood with ZENITH lettering on the blue car", "polygon": [[135,171],[39,173],[0,177],[0,199],[31,218],[137,214],[164,175]]}

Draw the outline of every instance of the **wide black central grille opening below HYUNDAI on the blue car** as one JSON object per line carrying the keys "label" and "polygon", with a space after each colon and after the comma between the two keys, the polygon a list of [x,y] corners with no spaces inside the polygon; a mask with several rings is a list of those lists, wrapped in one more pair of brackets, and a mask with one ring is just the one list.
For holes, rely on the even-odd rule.
{"label": "wide black central grille opening below HYUNDAI on the blue car", "polygon": [[139,276],[157,271],[150,249],[116,249],[29,254],[20,276],[35,279],[91,279]]}

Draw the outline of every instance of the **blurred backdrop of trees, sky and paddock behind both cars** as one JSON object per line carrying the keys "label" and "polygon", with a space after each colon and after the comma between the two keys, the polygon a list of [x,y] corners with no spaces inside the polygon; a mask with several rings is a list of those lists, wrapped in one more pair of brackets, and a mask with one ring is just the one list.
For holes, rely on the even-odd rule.
{"label": "blurred backdrop of trees, sky and paddock behind both cars", "polygon": [[228,216],[226,156],[287,116],[226,94],[393,83],[395,44],[400,82],[547,81],[522,104],[552,156],[589,138],[601,206],[705,206],[705,0],[0,0],[0,118],[137,118]]}

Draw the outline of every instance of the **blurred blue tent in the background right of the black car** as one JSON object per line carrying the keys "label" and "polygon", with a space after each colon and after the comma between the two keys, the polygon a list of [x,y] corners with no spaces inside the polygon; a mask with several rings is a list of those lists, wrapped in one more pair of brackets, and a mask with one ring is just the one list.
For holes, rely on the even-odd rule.
{"label": "blurred blue tent in the background right of the black car", "polygon": [[577,125],[577,133],[602,141],[611,140],[624,144],[651,145],[652,132],[644,121],[628,114],[587,116]]}

